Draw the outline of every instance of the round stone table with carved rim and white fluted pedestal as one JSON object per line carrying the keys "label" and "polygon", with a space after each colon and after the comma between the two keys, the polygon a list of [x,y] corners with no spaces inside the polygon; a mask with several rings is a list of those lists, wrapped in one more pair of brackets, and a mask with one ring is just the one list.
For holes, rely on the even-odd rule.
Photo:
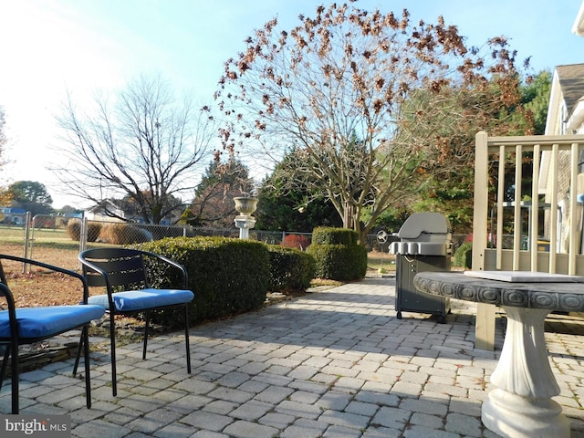
{"label": "round stone table with carved rim and white fluted pedestal", "polygon": [[431,295],[505,309],[506,336],[490,379],[495,389],[482,406],[483,423],[506,437],[568,438],[568,418],[552,400],[559,387],[547,359],[544,322],[554,310],[584,310],[584,277],[506,271],[464,274],[421,272],[413,284]]}

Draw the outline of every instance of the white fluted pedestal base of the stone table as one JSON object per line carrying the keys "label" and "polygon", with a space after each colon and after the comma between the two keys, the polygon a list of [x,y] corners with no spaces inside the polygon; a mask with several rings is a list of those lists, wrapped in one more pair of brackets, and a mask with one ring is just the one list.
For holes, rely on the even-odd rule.
{"label": "white fluted pedestal base of the stone table", "polygon": [[491,375],[496,388],[483,403],[483,423],[509,438],[568,438],[568,418],[551,399],[559,394],[559,387],[549,366],[544,337],[549,309],[503,308],[506,337]]}

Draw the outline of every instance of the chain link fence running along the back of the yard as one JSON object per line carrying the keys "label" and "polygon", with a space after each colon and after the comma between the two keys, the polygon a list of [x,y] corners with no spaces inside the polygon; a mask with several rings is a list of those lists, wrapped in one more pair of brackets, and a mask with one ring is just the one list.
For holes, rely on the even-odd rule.
{"label": "chain link fence running along the back of the yard", "polygon": [[[130,245],[164,237],[224,236],[239,237],[237,228],[199,228],[190,225],[129,224],[96,221],[62,215],[12,214],[9,220],[0,221],[1,252],[76,270],[78,254],[93,246]],[[270,232],[251,229],[249,238],[266,244],[287,245],[306,249],[310,245],[310,233]],[[365,243],[368,251],[388,253],[396,235],[368,235]],[[469,235],[454,235],[454,251]],[[454,253],[453,253],[454,254]],[[23,266],[23,272],[26,266]]]}

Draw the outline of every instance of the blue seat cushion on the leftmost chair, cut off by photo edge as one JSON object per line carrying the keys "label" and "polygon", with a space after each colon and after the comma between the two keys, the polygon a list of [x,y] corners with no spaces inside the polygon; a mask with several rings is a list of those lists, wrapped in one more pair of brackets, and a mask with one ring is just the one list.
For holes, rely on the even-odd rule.
{"label": "blue seat cushion on the leftmost chair, cut off by photo edge", "polygon": [[[99,319],[104,313],[104,308],[89,305],[17,308],[16,320],[21,340],[48,338]],[[8,310],[0,312],[0,338],[10,339]]]}

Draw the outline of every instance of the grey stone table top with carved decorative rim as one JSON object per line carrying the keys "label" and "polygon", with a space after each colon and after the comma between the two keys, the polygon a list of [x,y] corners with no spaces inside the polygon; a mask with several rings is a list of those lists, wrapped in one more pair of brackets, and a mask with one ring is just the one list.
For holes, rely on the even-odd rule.
{"label": "grey stone table top with carved decorative rim", "polygon": [[420,272],[414,276],[413,285],[431,295],[502,307],[584,310],[584,284],[578,282],[511,282],[468,276],[463,272]]}

